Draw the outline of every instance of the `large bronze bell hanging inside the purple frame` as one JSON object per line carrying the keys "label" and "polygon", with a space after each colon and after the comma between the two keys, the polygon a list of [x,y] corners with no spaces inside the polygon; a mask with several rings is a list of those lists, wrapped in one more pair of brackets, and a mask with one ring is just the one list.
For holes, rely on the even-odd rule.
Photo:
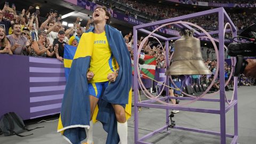
{"label": "large bronze bell hanging inside the purple frame", "polygon": [[174,42],[174,54],[165,75],[210,75],[204,64],[200,40],[193,37],[194,30],[184,30],[181,38]]}

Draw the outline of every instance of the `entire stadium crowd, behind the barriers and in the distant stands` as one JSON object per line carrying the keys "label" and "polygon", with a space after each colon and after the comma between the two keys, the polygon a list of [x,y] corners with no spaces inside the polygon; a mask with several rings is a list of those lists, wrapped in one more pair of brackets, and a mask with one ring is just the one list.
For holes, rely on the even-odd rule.
{"label": "entire stadium crowd, behind the barriers and in the distant stands", "polygon": [[[127,0],[121,1],[133,3],[133,6],[136,9],[151,9],[150,11],[145,11],[148,13],[153,12],[153,14],[157,14],[158,12],[164,11],[164,9],[159,9],[159,7],[156,7],[155,5],[151,5],[151,7],[144,5],[142,6],[142,8],[141,5],[138,4],[138,2]],[[52,12],[47,14],[47,20],[41,22],[38,19],[39,11],[30,14],[30,11],[34,8],[35,7],[30,6],[28,10],[23,9],[19,15],[15,11],[15,6],[9,7],[9,5],[5,5],[3,10],[0,10],[0,53],[31,55],[33,57],[50,57],[57,58],[58,60],[63,61],[63,51],[65,44],[77,46],[79,43],[79,39],[84,32],[81,26],[78,24],[80,18],[76,19],[73,27],[65,29],[65,27],[62,26],[60,23],[61,15],[58,15],[57,12],[53,12],[51,10]],[[154,13],[154,10],[156,13]],[[173,14],[175,17],[177,17],[181,14],[179,10],[176,9],[169,9],[165,12],[166,13],[162,13],[163,15],[161,15],[161,17],[167,17],[167,15],[170,16],[170,14]],[[6,13],[13,14],[13,17],[6,17]],[[184,10],[182,13],[188,14],[191,13],[191,11]],[[243,13],[243,15],[246,15],[246,13]],[[239,25],[239,23],[251,21],[249,17],[244,18],[238,13],[231,14],[231,17],[235,17],[234,20],[235,22],[237,22],[237,26],[241,27],[242,29],[243,25]],[[200,23],[202,23],[202,26],[205,27],[216,27],[216,25],[218,25],[218,22],[215,21],[216,18],[216,15],[208,15],[203,17]],[[190,22],[198,24],[199,21],[193,19],[190,20]],[[92,23],[92,20],[89,20],[87,22],[86,30],[89,29],[90,23]],[[138,47],[141,44],[142,40],[143,37],[140,37],[137,42],[138,45],[134,46],[132,33],[130,32],[129,34],[124,36],[124,41],[127,45],[127,49],[131,54],[131,58],[133,57],[134,47]],[[165,46],[163,46],[163,48],[164,47]],[[170,52],[170,58],[170,55],[173,52],[172,43],[170,44],[168,49]],[[160,44],[157,44],[154,41],[147,40],[142,46],[141,53],[153,55],[156,58],[156,67],[165,68],[165,53]],[[212,51],[207,50],[206,55],[208,60],[205,61],[205,65],[209,67],[209,69],[214,74],[217,61],[209,60],[210,54],[212,54]],[[225,70],[227,71],[227,76],[230,75],[230,66],[225,65]],[[201,76],[198,81],[209,84],[209,82],[212,81],[212,78],[212,76]],[[254,82],[254,79],[241,76],[242,85],[252,85],[252,83]],[[214,89],[219,89],[218,82],[216,82],[213,87]]]}

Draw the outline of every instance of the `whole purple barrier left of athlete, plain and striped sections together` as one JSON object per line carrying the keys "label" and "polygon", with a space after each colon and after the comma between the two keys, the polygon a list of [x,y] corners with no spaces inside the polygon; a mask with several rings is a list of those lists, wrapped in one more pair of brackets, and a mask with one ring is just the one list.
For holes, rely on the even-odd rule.
{"label": "whole purple barrier left of athlete, plain and striped sections together", "polygon": [[1,54],[0,67],[0,116],[14,111],[22,119],[32,119],[60,112],[66,86],[63,63]]}

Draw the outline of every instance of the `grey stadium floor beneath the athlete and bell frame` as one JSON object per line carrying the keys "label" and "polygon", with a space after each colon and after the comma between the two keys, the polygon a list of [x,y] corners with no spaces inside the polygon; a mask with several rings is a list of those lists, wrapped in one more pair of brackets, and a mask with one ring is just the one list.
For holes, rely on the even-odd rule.
{"label": "grey stadium floor beneath the athlete and bell frame", "polygon": [[[238,88],[238,142],[240,144],[253,144],[256,141],[256,95],[255,95],[256,86],[240,86]],[[228,97],[231,97],[231,91],[227,92]],[[142,99],[145,99],[141,95]],[[217,98],[217,96],[214,96]],[[218,102],[194,102],[189,106],[196,106],[198,108],[219,108]],[[234,132],[234,113],[231,109],[227,113],[226,117],[226,131],[227,133]],[[45,119],[57,119],[58,115],[44,117]],[[34,119],[26,121],[30,124],[29,128],[36,126],[44,126],[44,128],[36,129],[30,132],[25,132],[22,134],[30,134],[28,137],[17,137],[16,135],[3,137],[0,136],[0,143],[2,144],[43,144],[43,143],[68,143],[64,140],[59,133],[57,133],[57,124],[58,121],[52,122],[39,122],[42,119]],[[220,120],[219,115],[214,114],[202,114],[202,113],[193,113],[188,111],[180,111],[180,113],[175,114],[174,120],[176,125],[186,126],[196,129],[204,129],[211,131],[220,131]],[[155,108],[142,108],[139,113],[139,137],[142,137],[162,127],[165,123],[165,110],[155,109]],[[128,143],[134,143],[134,124],[133,116],[128,121]],[[103,144],[106,141],[107,133],[103,131],[101,123],[97,123],[93,127],[93,137],[95,144]],[[151,143],[220,143],[220,137],[201,134],[195,132],[188,132],[182,130],[170,130],[171,133],[158,133],[154,137],[147,139],[147,142]],[[227,143],[230,143],[231,139],[227,138]]]}

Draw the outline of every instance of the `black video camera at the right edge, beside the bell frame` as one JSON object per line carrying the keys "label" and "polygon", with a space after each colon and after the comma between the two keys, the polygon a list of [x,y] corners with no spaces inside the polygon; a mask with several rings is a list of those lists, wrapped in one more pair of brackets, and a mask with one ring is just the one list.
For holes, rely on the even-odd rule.
{"label": "black video camera at the right edge, beside the bell frame", "polygon": [[[234,38],[243,38],[246,42],[237,42]],[[236,65],[234,70],[234,76],[239,76],[243,73],[247,66],[247,61],[244,57],[254,57],[256,55],[256,25],[255,23],[246,28],[239,36],[234,37],[233,40],[237,43],[231,43],[228,45],[228,55],[236,57]]]}

